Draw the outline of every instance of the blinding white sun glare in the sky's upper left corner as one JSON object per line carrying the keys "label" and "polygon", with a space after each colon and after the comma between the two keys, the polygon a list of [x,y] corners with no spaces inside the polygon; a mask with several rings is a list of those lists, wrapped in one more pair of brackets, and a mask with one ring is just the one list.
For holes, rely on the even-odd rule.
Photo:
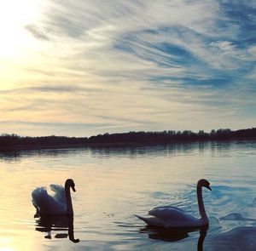
{"label": "blinding white sun glare in the sky's upper left corner", "polygon": [[26,26],[39,20],[46,3],[48,0],[0,2],[0,89],[14,87],[20,74],[23,74],[22,66],[32,58],[36,42],[26,31]]}

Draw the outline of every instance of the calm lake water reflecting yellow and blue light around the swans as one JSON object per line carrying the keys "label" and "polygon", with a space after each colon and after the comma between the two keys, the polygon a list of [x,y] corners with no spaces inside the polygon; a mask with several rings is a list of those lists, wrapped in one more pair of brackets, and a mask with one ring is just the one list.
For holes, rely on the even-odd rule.
{"label": "calm lake water reflecting yellow and blue light around the swans", "polygon": [[[255,141],[2,152],[0,168],[1,250],[255,250]],[[34,188],[67,178],[77,242],[70,222],[51,227],[32,206]],[[148,229],[133,215],[174,205],[198,216],[201,178],[207,230]]]}

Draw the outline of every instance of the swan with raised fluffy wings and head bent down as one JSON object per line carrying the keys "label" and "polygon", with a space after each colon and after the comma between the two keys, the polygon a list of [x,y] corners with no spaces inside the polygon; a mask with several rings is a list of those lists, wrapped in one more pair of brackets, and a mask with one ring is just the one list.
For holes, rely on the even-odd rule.
{"label": "swan with raised fluffy wings and head bent down", "polygon": [[[70,187],[75,190],[72,179],[67,179],[65,188],[62,185],[49,185],[50,190],[55,192],[54,196],[47,193],[45,187],[38,187],[32,191],[32,204],[37,209],[37,214],[71,214],[73,205],[70,196]],[[36,214],[36,215],[37,215]]]}

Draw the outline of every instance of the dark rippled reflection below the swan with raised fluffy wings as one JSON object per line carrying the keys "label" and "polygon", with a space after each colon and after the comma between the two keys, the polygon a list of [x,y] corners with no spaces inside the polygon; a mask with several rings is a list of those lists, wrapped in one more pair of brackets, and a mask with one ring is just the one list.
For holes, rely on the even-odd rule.
{"label": "dark rippled reflection below the swan with raised fluffy wings", "polygon": [[[36,231],[47,232],[45,238],[51,239],[52,231],[61,231],[56,233],[55,238],[69,238],[71,242],[79,242],[75,239],[73,232],[73,215],[53,215],[41,214],[40,218],[36,220]],[[63,233],[67,231],[67,233]]]}

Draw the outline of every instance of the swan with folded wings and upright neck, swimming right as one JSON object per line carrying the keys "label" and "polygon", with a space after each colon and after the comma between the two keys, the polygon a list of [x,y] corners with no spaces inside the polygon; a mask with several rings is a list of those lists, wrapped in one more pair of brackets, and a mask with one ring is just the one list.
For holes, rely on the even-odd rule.
{"label": "swan with folded wings and upright neck, swimming right", "polygon": [[157,207],[153,208],[148,212],[149,215],[154,217],[145,218],[142,216],[137,216],[138,219],[145,221],[148,225],[157,227],[199,227],[202,225],[208,225],[209,220],[204,207],[201,188],[202,186],[211,190],[209,181],[205,179],[198,180],[197,182],[197,202],[199,213],[201,218],[195,218],[194,216],[188,214],[181,208],[175,208],[172,206]]}

